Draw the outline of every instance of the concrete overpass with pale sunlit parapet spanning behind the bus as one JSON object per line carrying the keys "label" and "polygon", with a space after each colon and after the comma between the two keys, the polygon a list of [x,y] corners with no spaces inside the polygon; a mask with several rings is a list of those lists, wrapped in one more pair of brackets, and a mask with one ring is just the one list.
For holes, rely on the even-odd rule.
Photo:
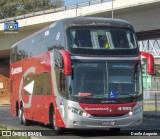
{"label": "concrete overpass with pale sunlit parapet spanning behind the bus", "polygon": [[[159,7],[160,0],[115,0],[114,17],[128,20],[137,32],[156,30],[160,29]],[[20,27],[17,34],[5,34],[4,23],[0,23],[0,51],[9,50],[15,42],[56,20],[75,16],[111,17],[111,10],[112,3],[106,2],[20,19],[17,20]]]}

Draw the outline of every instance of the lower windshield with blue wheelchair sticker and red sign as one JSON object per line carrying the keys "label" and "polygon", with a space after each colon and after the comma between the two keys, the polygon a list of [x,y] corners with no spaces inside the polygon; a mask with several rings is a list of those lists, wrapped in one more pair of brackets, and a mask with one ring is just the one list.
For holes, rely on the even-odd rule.
{"label": "lower windshield with blue wheelchair sticker and red sign", "polygon": [[68,77],[69,95],[94,98],[124,98],[142,93],[137,63],[73,63]]}

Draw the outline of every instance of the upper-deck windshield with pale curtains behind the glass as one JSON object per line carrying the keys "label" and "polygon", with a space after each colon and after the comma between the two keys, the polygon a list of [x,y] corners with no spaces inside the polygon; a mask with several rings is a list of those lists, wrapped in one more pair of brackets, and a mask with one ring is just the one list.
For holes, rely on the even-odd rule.
{"label": "upper-deck windshield with pale curtains behind the glass", "polygon": [[125,28],[71,28],[68,31],[69,46],[86,49],[134,49],[135,34]]}

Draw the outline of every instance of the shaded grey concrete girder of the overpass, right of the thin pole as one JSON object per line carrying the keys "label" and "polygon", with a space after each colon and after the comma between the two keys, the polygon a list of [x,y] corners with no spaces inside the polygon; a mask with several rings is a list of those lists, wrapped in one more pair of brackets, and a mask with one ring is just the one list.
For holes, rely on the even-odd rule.
{"label": "shaded grey concrete girder of the overpass, right of the thin pole", "polygon": [[136,32],[143,32],[149,30],[160,29],[160,8],[150,7],[147,9],[139,9],[135,11],[128,11],[126,13],[117,13],[115,18],[128,20],[131,22]]}

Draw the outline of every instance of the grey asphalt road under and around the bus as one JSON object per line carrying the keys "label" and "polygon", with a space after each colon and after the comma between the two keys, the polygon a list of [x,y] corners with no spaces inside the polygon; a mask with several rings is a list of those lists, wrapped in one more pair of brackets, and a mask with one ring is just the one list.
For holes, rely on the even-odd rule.
{"label": "grey asphalt road under and around the bus", "polygon": [[[159,139],[160,136],[131,136],[131,134],[137,134],[140,135],[141,133],[144,133],[141,130],[149,130],[146,133],[150,132],[156,132],[160,134],[160,132],[157,132],[156,130],[160,131],[160,119],[146,119],[144,118],[143,124],[141,127],[138,128],[130,128],[130,129],[122,129],[120,133],[113,134],[110,133],[108,130],[67,130],[63,134],[56,136],[54,134],[54,131],[52,128],[45,126],[43,124],[33,124],[31,126],[23,126],[19,124],[19,120],[17,117],[12,117],[9,112],[8,106],[0,106],[0,125],[7,126],[8,129],[14,129],[14,130],[29,130],[29,131],[42,131],[45,132],[45,134],[52,134],[52,136],[45,136],[45,137],[34,137],[36,139],[73,139],[73,138],[89,138],[89,139],[127,139],[127,138],[136,138],[136,139],[146,139],[146,138],[157,138]],[[129,131],[128,131],[129,130]],[[131,133],[132,132],[132,133]],[[126,133],[129,134],[129,136],[126,136]],[[4,138],[4,137],[0,137]]]}

